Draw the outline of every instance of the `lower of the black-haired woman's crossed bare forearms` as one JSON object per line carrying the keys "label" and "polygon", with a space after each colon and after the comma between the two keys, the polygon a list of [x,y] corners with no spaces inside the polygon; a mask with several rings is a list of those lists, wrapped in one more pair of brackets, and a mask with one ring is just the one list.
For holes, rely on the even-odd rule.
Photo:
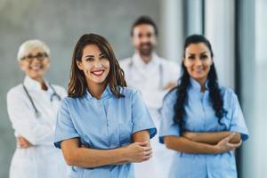
{"label": "lower of the black-haired woman's crossed bare forearms", "polygon": [[166,147],[170,150],[176,150],[190,154],[216,154],[220,151],[214,146],[201,142],[193,142],[184,137],[166,136],[164,138]]}

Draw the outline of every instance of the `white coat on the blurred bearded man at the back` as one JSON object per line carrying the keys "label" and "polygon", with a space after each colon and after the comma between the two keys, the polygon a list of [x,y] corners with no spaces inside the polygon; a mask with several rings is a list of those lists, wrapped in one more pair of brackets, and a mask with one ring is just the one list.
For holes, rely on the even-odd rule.
{"label": "white coat on the blurred bearded man at the back", "polygon": [[[125,71],[125,80],[128,86],[134,87],[142,93],[142,97],[150,109],[150,115],[159,129],[158,109],[162,106],[164,96],[168,92],[162,87],[169,82],[178,81],[180,67],[173,61],[166,61],[152,54],[152,60],[146,64],[138,53],[133,57],[120,61],[121,68]],[[165,178],[171,166],[174,151],[167,150],[165,145],[158,142],[158,134],[151,140],[153,157],[149,161],[134,165],[136,178]]]}

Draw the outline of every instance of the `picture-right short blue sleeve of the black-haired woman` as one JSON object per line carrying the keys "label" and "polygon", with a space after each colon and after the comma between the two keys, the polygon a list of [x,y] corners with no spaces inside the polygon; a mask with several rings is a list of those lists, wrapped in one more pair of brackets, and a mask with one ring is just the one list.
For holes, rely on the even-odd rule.
{"label": "picture-right short blue sleeve of the black-haired woman", "polygon": [[238,97],[235,93],[232,95],[232,115],[230,131],[237,132],[241,134],[242,140],[246,141],[248,139],[248,130],[245,123],[245,119],[239,104]]}

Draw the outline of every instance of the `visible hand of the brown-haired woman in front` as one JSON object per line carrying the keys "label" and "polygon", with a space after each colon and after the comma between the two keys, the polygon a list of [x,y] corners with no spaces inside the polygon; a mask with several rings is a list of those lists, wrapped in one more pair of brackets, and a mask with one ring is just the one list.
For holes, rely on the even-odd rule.
{"label": "visible hand of the brown-haired woman in front", "polygon": [[150,142],[134,142],[126,146],[129,162],[140,163],[152,157]]}

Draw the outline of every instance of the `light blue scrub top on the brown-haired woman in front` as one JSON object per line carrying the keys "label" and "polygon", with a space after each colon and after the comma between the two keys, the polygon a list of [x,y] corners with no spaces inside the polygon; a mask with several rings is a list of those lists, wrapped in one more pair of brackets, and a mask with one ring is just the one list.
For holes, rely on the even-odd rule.
{"label": "light blue scrub top on the brown-haired woman in front", "polygon": [[[150,138],[157,130],[141,94],[129,88],[119,88],[125,95],[119,99],[111,93],[109,86],[101,100],[93,98],[87,91],[83,97],[67,97],[61,101],[57,117],[54,144],[78,137],[80,142],[96,150],[116,149],[132,142],[132,134],[148,130]],[[94,168],[71,167],[70,177],[134,177],[133,164],[109,165]]]}

